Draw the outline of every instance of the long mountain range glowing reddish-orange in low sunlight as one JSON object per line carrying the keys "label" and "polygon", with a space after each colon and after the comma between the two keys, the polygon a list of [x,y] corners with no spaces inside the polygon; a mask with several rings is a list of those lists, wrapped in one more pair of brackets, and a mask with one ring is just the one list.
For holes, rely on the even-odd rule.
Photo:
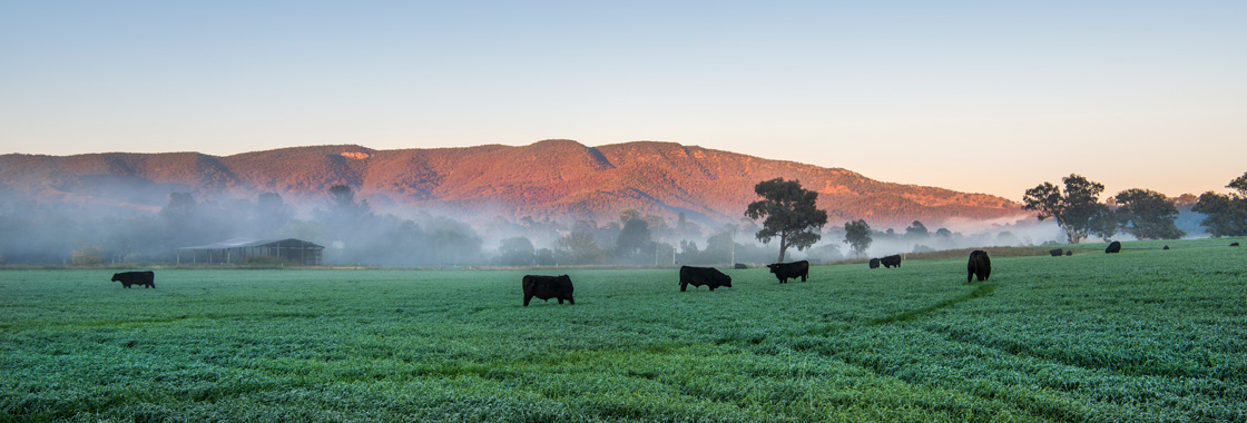
{"label": "long mountain range glowing reddish-orange in low sunlight", "polygon": [[527,146],[372,150],[357,145],[289,147],[211,156],[198,152],[0,156],[0,192],[84,211],[158,211],[170,192],[288,202],[328,201],[334,185],[355,190],[374,210],[424,210],[461,220],[611,221],[624,210],[729,222],[759,200],[764,180],[799,180],[818,191],[832,226],[863,218],[904,228],[1025,216],[1006,198],[867,178],[844,168],[767,160],[671,142],[597,147],[570,140]]}

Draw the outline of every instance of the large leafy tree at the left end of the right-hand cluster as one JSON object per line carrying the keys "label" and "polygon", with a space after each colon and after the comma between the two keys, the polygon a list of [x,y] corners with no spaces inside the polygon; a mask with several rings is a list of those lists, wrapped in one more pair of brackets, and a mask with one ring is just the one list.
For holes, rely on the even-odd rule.
{"label": "large leafy tree at the left end of the right-hand cluster", "polygon": [[1099,202],[1104,185],[1077,173],[1070,173],[1061,181],[1065,182],[1064,192],[1050,182],[1026,190],[1023,208],[1038,211],[1041,222],[1056,218],[1070,243],[1079,243],[1091,233],[1104,233],[1104,218],[1110,213],[1109,206]]}

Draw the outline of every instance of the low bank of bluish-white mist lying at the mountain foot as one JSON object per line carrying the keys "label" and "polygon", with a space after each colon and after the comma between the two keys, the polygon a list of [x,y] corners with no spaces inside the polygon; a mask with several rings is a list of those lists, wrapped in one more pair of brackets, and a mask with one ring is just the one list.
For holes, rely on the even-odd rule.
{"label": "low bank of bluish-white mist lying at the mountain foot", "polygon": [[[126,195],[150,201],[155,193]],[[403,208],[398,216],[374,211],[345,186],[298,205],[273,192],[253,198],[190,192],[165,197],[158,208],[92,207],[90,202],[36,201],[0,188],[0,263],[176,263],[178,247],[236,237],[314,242],[325,247],[325,265],[397,267],[761,265],[778,256],[778,246],[757,242],[757,223],[743,217],[698,222],[682,213],[665,218],[627,210],[609,221],[571,216],[465,221],[421,208]],[[1193,215],[1183,212],[1180,222],[1198,222]],[[1187,232],[1202,233],[1198,228]],[[812,247],[789,251],[791,260],[859,258],[843,242],[843,227],[829,223],[821,235]],[[914,222],[907,228],[878,228],[872,238],[869,257],[1062,240],[1051,221],[1034,220],[961,220],[933,230]],[[182,258],[188,257],[183,253]]]}

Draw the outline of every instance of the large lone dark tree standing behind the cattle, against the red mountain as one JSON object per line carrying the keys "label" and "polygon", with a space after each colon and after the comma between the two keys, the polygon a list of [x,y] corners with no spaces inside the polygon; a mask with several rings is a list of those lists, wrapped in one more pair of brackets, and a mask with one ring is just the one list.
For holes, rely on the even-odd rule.
{"label": "large lone dark tree standing behind the cattle, against the red mountain", "polygon": [[752,220],[766,218],[758,231],[758,241],[769,243],[779,237],[779,262],[783,262],[788,247],[806,250],[822,238],[814,228],[827,225],[827,211],[818,210],[818,192],[804,190],[801,181],[784,181],[777,177],[758,182],[753,187],[762,201],[749,203],[744,216]]}

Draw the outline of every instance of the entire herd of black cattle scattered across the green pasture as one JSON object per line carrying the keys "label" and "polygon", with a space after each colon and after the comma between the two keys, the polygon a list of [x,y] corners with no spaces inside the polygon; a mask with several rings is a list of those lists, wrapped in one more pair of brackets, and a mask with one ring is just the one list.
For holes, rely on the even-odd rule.
{"label": "entire herd of black cattle scattered across the green pasture", "polygon": [[[1231,247],[1237,247],[1238,242],[1231,243]],[[1163,250],[1168,250],[1165,246]],[[1114,241],[1104,250],[1105,253],[1121,252],[1121,242]],[[1052,257],[1059,256],[1071,256],[1072,251],[1064,251],[1061,248],[1050,250],[1047,252]],[[883,265],[885,268],[892,268],[893,266],[900,267],[900,256],[893,255],[879,258],[870,258],[870,268],[879,268]],[[736,263],[734,268],[748,268],[748,266]],[[774,273],[779,283],[788,283],[788,280],[801,278],[802,282],[809,277],[809,262],[797,261],[791,263],[773,263],[767,265],[771,273]],[[965,265],[965,282],[970,283],[978,277],[979,282],[988,281],[991,277],[991,258],[988,257],[988,252],[983,250],[975,250],[970,252],[970,260]],[[126,288],[133,284],[141,284],[146,288],[156,288],[156,273],[151,271],[146,272],[121,272],[112,273],[112,282],[121,282]],[[693,266],[681,266],[680,267],[680,291],[683,292],[692,284],[693,288],[700,288],[702,286],[708,287],[710,291],[715,291],[718,287],[732,287],[732,277],[723,275],[717,268],[713,267],[693,267]],[[571,277],[567,275],[561,276],[539,276],[539,275],[526,275],[520,281],[520,286],[524,288],[524,307],[529,306],[529,302],[534,297],[542,301],[549,301],[550,298],[557,298],[561,304],[567,301],[570,304],[575,304],[576,301],[572,298],[575,287],[571,284]]]}

